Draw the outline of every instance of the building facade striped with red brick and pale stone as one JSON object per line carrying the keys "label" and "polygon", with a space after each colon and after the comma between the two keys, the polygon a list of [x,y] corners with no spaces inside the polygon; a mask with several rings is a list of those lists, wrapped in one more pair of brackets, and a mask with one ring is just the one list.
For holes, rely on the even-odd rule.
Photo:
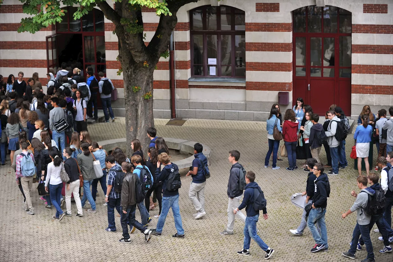
{"label": "building facade striped with red brick and pale stone", "polygon": [[[76,7],[68,8],[72,14]],[[118,89],[124,114],[114,25],[94,9],[81,20],[33,34],[17,33],[22,5],[0,7],[0,74],[38,72],[65,59],[104,71]],[[357,118],[363,105],[376,113],[392,104],[392,0],[200,0],[177,13],[174,31],[176,113],[181,118],[265,120],[273,103],[284,112],[297,97],[324,114],[340,105]],[[143,9],[145,41],[159,17]],[[154,116],[170,118],[169,62],[154,72]],[[282,100],[281,100],[282,99]],[[287,101],[285,101],[287,100]]]}

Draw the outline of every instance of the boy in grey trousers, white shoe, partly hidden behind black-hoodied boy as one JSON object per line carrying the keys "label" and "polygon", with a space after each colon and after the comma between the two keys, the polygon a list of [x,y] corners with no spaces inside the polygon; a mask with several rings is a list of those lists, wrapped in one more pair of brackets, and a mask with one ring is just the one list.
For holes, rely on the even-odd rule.
{"label": "boy in grey trousers, white shoe, partly hidden behind black-hoodied boy", "polygon": [[[312,203],[312,197],[314,197],[314,187],[315,187],[314,181],[317,177],[316,175],[314,175],[312,168],[316,163],[318,162],[314,158],[309,158],[306,160],[306,166],[307,169],[309,170],[309,174],[307,175],[306,191],[302,192],[302,196],[307,195],[305,201],[306,205]],[[307,226],[306,216],[307,216],[307,212],[306,210],[303,210],[299,227],[297,229],[290,229],[289,232],[291,232],[295,236],[303,235],[303,231]]]}

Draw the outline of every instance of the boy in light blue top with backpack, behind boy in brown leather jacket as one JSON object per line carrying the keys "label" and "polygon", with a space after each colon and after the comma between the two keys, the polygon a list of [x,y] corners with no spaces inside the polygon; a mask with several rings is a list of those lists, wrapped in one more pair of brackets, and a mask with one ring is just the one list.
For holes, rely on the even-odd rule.
{"label": "boy in light blue top with backpack, behind boy in brown leather jacket", "polygon": [[[140,155],[132,155],[131,164],[134,165],[134,171],[132,173],[138,175],[145,193],[153,186],[153,176],[151,175],[149,168],[142,165],[142,158]],[[151,217],[148,211],[149,206],[145,207],[144,200],[145,198],[143,197],[143,201],[138,202],[137,206],[141,214],[142,225],[147,226],[147,224],[151,221]]]}

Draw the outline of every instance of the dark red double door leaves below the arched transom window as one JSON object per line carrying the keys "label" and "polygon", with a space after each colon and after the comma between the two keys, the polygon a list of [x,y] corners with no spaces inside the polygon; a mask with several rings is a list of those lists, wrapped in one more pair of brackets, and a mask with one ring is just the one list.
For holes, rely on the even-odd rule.
{"label": "dark red double door leaves below the arched transom window", "polygon": [[294,33],[293,104],[301,97],[313,112],[330,105],[351,114],[351,35]]}

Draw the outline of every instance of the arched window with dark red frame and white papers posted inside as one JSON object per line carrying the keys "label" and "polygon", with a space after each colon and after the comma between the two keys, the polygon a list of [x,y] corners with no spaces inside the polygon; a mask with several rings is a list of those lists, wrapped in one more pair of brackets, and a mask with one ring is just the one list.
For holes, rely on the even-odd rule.
{"label": "arched window with dark red frame and white papers posted inside", "polygon": [[190,11],[191,75],[246,77],[244,11],[202,6]]}

